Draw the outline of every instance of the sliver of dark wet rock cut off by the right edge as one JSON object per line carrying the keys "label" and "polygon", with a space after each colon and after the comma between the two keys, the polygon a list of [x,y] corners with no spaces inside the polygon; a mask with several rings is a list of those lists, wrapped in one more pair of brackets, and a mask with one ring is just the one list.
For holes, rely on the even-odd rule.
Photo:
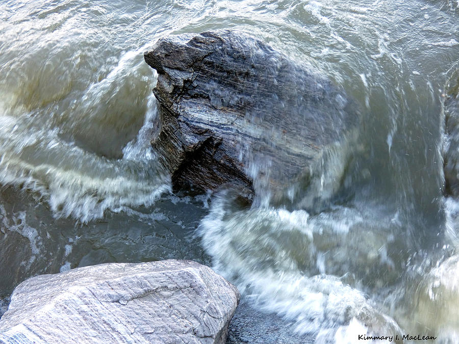
{"label": "sliver of dark wet rock cut off by the right edge", "polygon": [[445,97],[445,193],[459,196],[459,71],[449,80]]}

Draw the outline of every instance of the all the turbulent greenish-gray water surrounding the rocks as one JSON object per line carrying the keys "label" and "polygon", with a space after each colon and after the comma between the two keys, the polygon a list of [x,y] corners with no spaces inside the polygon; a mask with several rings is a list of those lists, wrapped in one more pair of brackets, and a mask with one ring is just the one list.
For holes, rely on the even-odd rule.
{"label": "all the turbulent greenish-gray water surrounding the rocks", "polygon": [[[459,342],[459,202],[442,192],[443,104],[459,90],[457,0],[2,5],[0,308],[36,274],[186,258],[237,284],[251,311],[282,317],[285,342],[366,333]],[[270,43],[361,109],[351,161],[331,167],[344,171],[338,191],[333,173],[315,181],[317,197],[333,194],[325,210],[241,208],[229,190],[171,193],[150,146],[156,72],[143,51],[214,29]],[[247,334],[243,322],[230,334],[272,335]]]}

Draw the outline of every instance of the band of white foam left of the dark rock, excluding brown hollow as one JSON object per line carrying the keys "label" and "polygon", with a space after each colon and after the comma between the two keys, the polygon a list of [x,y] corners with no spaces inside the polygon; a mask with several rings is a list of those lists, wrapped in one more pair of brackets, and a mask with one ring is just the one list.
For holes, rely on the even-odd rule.
{"label": "band of white foam left of the dark rock, excluding brown hollow", "polygon": [[107,209],[149,206],[170,190],[169,176],[145,135],[151,118],[146,117],[145,129],[126,146],[125,157],[110,160],[62,141],[57,131],[17,136],[17,120],[4,117],[0,136],[9,144],[2,147],[0,181],[38,193],[56,217],[81,222],[101,218]]}

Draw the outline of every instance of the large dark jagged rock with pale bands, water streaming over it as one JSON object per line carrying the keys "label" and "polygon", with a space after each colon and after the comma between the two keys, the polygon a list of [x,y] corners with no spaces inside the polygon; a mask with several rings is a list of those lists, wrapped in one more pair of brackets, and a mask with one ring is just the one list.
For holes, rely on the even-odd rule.
{"label": "large dark jagged rock with pale bands, water streaming over it", "polygon": [[257,181],[286,194],[296,180],[309,183],[356,123],[343,91],[243,33],[169,36],[144,57],[159,74],[152,144],[175,187],[232,183],[250,197]]}

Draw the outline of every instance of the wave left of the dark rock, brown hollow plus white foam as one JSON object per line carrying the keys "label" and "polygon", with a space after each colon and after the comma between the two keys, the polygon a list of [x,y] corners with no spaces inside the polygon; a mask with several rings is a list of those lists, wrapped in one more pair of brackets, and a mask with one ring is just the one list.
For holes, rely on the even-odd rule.
{"label": "wave left of the dark rock, brown hollow plus white foam", "polygon": [[124,54],[81,100],[69,107],[55,100],[54,121],[3,102],[0,182],[38,193],[56,217],[81,222],[107,209],[149,206],[169,191],[150,145],[157,111],[149,90],[157,76],[142,49]]}

